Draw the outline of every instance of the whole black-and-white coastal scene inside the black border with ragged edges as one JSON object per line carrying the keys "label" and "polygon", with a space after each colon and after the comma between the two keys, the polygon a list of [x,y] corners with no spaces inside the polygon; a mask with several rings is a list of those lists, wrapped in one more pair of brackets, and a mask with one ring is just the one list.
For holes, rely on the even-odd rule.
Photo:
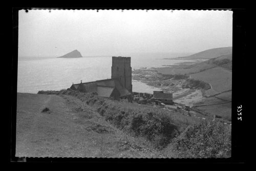
{"label": "whole black-and-white coastal scene inside the black border with ragged edges", "polygon": [[15,157],[230,158],[232,35],[231,10],[19,10]]}

